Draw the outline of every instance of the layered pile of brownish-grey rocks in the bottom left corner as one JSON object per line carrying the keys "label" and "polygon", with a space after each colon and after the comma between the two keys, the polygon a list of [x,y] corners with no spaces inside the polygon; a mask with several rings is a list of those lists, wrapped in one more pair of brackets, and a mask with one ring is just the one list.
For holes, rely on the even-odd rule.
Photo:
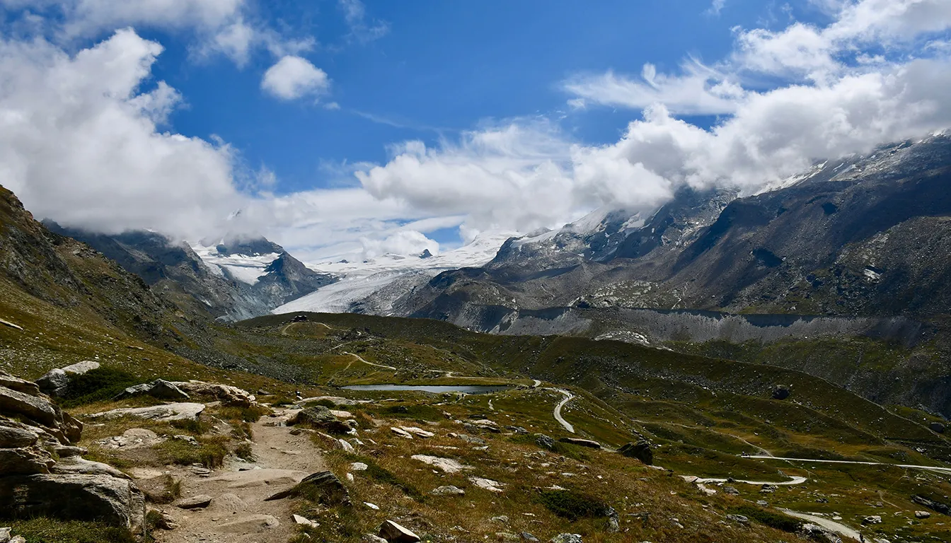
{"label": "layered pile of brownish-grey rocks in the bottom left corner", "polygon": [[0,511],[98,520],[142,533],[146,500],[125,474],[82,457],[81,422],[35,382],[0,370]]}

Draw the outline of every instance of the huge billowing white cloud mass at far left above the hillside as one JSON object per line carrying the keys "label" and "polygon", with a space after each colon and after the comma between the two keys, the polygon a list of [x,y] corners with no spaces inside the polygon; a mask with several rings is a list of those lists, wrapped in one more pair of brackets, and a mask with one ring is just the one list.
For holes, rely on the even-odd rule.
{"label": "huge billowing white cloud mass at far left above the hillside", "polygon": [[74,56],[0,41],[0,179],[35,215],[185,235],[244,204],[227,145],[157,129],[179,100],[143,87],[161,52],[132,30]]}

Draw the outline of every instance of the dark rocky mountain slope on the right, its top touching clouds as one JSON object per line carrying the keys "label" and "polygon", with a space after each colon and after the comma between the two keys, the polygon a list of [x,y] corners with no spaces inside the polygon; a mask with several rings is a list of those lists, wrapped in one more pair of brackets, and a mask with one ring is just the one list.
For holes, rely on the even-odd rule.
{"label": "dark rocky mountain slope on the right, its top touching clouds", "polygon": [[951,306],[951,138],[887,145],[736,198],[683,190],[642,221],[600,213],[506,242],[397,306],[456,321],[474,305],[927,317]]}

